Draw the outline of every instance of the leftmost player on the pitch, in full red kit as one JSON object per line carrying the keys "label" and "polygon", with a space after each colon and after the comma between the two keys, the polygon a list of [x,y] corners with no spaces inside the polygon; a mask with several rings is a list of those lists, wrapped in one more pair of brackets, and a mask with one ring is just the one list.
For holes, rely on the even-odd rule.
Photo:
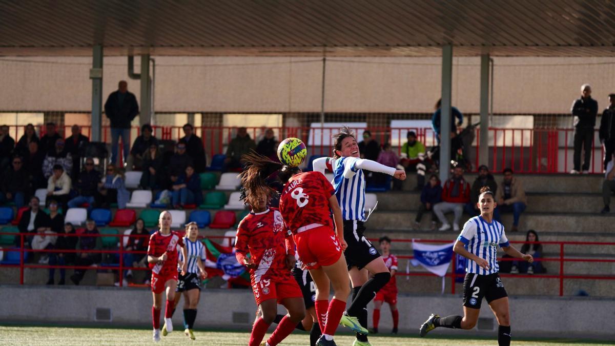
{"label": "leftmost player on the pitch, in full red kit", "polygon": [[[160,310],[162,308],[162,292],[167,291],[167,304],[164,312],[166,332],[173,331],[171,316],[173,300],[177,288],[177,246],[181,247],[184,258],[187,257],[182,234],[171,230],[171,213],[163,211],[158,220],[160,229],[149,237],[148,263],[152,270],[151,289],[154,298],[152,307],[152,323],[154,325],[154,341],[160,341]],[[181,270],[186,273],[186,264]]]}

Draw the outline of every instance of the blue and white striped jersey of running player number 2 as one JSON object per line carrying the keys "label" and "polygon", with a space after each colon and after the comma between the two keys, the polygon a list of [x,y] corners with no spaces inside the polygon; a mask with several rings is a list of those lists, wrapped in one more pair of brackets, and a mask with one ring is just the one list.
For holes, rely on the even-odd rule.
{"label": "blue and white striped jersey of running player number 2", "polygon": [[498,246],[510,245],[506,233],[504,233],[504,226],[496,220],[488,223],[481,216],[467,220],[457,239],[466,244],[468,252],[488,262],[489,270],[485,270],[473,260],[467,260],[466,272],[478,275],[497,273],[499,270]]}

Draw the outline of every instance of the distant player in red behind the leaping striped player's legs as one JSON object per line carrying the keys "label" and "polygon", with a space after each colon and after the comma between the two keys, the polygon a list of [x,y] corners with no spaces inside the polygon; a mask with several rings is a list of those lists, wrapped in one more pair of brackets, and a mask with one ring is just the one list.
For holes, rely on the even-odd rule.
{"label": "distant player in red behind the leaping striped player's legs", "polygon": [[380,243],[380,250],[382,251],[382,258],[384,264],[389,271],[391,271],[391,280],[384,285],[383,288],[376,293],[374,298],[374,329],[373,333],[378,332],[378,322],[380,321],[380,308],[383,306],[383,302],[389,304],[391,307],[391,316],[393,318],[393,330],[392,334],[397,334],[397,324],[399,323],[399,311],[397,311],[397,280],[395,280],[395,273],[397,273],[397,257],[391,254],[391,239],[387,236],[383,236],[378,239]]}

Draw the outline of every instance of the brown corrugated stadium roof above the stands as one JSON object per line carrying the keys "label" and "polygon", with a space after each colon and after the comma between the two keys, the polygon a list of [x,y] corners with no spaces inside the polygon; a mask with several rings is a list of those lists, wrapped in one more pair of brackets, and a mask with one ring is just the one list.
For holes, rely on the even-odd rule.
{"label": "brown corrugated stadium roof above the stands", "polygon": [[615,2],[0,0],[0,55],[613,56]]}

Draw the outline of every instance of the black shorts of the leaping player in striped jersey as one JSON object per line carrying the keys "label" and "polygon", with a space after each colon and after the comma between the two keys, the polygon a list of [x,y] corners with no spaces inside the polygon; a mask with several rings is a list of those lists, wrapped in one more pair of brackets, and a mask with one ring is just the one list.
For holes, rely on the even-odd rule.
{"label": "black shorts of the leaping player in striped jersey", "polygon": [[365,225],[362,221],[344,220],[344,240],[348,244],[344,256],[348,270],[357,267],[361,270],[371,261],[380,257],[378,250],[363,236]]}

